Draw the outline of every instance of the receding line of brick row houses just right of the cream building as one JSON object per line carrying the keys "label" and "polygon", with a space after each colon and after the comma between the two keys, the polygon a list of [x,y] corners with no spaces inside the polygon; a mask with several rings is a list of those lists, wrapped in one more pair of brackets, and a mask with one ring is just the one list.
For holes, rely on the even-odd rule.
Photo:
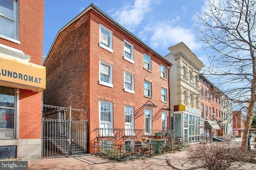
{"label": "receding line of brick row houses just right of the cream building", "polygon": [[204,133],[210,136],[231,136],[232,102],[203,74],[200,75],[200,97],[201,117],[207,124],[205,127],[208,124],[212,127],[211,132],[204,127]]}

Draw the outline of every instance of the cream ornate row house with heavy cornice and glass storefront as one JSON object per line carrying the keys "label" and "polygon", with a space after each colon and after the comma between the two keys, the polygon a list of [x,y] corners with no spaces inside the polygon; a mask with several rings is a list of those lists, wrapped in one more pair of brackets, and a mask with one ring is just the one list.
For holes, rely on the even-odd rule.
{"label": "cream ornate row house with heavy cornice and glass storefront", "polygon": [[171,67],[172,124],[176,137],[200,142],[200,89],[199,72],[204,64],[183,43],[168,48],[171,53],[165,57],[174,65]]}

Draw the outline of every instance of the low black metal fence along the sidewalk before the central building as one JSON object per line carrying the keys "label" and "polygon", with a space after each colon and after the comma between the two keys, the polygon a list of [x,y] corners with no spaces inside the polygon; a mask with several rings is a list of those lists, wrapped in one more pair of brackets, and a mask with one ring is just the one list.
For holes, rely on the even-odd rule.
{"label": "low black metal fence along the sidewalk before the central building", "polygon": [[188,139],[173,139],[172,143],[165,143],[164,140],[152,140],[150,143],[133,145],[114,145],[94,142],[93,153],[104,158],[122,162],[127,159],[136,159],[140,157],[151,157],[165,153],[188,150],[191,142]]}

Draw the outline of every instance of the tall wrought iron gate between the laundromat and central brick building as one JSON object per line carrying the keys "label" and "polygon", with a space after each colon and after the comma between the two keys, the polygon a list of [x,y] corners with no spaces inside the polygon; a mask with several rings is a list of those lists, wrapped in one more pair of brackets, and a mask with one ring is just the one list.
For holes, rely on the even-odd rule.
{"label": "tall wrought iron gate between the laundromat and central brick building", "polygon": [[87,154],[89,109],[43,105],[42,157]]}

